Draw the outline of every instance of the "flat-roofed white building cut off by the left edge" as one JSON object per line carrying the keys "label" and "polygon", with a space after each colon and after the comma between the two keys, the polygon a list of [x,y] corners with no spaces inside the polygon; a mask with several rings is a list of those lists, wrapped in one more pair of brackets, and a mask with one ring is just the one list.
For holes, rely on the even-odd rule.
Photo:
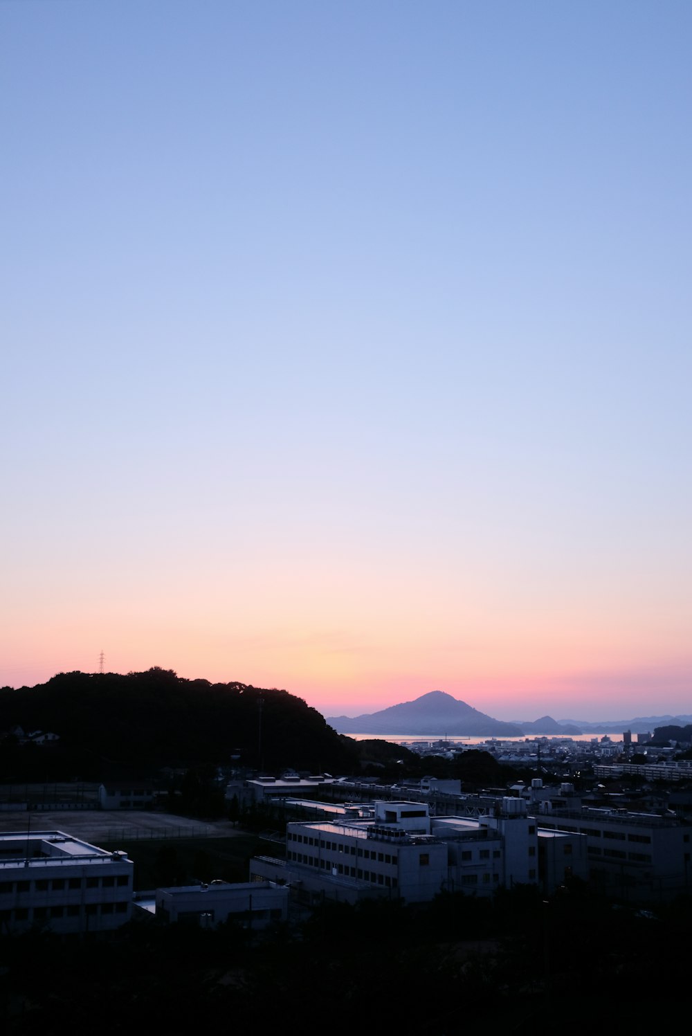
{"label": "flat-roofed white building cut off by the left edge", "polygon": [[62,831],[0,835],[0,931],[110,931],[129,920],[134,864]]}

